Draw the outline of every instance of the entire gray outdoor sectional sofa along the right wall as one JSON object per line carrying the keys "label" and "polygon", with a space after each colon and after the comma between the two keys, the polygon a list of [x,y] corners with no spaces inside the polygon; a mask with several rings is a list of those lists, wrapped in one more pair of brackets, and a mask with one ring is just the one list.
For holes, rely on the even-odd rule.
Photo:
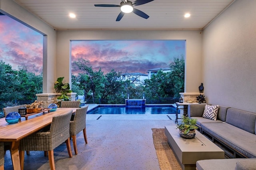
{"label": "entire gray outdoor sectional sofa along the right wall", "polygon": [[[214,121],[203,117],[205,105],[188,105],[188,116],[197,119],[199,131],[220,146],[230,158],[256,158],[256,113],[219,105],[217,119]],[[200,160],[198,167],[200,164],[206,165],[206,161],[216,164],[216,160]],[[227,161],[226,165],[233,162],[233,166],[237,162],[236,159],[224,159],[220,164],[222,161]],[[256,159],[247,161],[253,165],[256,163]],[[209,164],[209,169],[210,166],[212,165]]]}

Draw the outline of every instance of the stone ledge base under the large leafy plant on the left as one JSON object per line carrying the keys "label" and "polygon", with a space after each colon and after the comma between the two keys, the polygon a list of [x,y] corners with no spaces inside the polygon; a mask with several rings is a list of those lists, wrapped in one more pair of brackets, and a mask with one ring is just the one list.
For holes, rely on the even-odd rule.
{"label": "stone ledge base under the large leafy plant on the left", "polygon": [[[36,94],[37,101],[44,101],[43,107],[48,107],[51,103],[55,103],[58,105],[58,102],[60,100],[57,99],[58,96],[60,96],[61,93],[40,93]],[[70,97],[71,101],[76,101],[76,93],[68,93],[68,96]],[[60,107],[58,105],[58,107]]]}

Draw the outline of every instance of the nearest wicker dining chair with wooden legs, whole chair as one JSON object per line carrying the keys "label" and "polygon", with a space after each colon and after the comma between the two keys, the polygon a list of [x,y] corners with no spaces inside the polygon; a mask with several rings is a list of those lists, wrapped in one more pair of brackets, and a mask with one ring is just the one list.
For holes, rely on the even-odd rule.
{"label": "nearest wicker dining chair with wooden legs, whole chair", "polygon": [[63,115],[52,117],[50,130],[46,132],[35,132],[20,140],[20,166],[24,169],[24,151],[48,151],[51,170],[55,170],[53,150],[63,142],[66,142],[69,157],[72,157],[70,148],[70,118],[72,110]]}

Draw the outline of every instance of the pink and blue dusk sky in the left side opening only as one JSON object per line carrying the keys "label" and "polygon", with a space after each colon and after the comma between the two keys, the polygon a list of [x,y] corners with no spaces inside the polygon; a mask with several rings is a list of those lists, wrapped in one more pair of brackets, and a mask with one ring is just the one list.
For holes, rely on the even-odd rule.
{"label": "pink and blue dusk sky in the left side opening only", "polygon": [[0,59],[12,69],[27,65],[28,71],[42,72],[43,36],[8,16],[0,16]]}

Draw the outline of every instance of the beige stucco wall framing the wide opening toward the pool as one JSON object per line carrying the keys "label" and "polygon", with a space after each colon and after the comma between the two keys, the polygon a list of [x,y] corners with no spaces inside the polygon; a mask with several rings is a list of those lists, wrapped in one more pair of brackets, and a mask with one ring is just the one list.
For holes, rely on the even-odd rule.
{"label": "beige stucco wall framing the wide opening toward the pool", "polygon": [[70,40],[186,40],[185,92],[199,92],[202,82],[200,31],[57,31],[57,77],[71,82]]}

